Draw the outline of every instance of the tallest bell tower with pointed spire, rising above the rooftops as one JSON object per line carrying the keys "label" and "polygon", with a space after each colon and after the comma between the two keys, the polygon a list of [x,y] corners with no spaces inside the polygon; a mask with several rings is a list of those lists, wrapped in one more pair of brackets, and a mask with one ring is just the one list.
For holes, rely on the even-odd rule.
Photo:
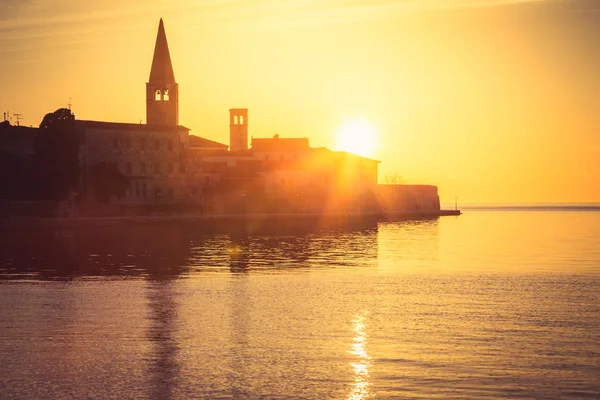
{"label": "tallest bell tower with pointed spire, rising above the rooftops", "polygon": [[179,124],[179,86],[175,82],[165,27],[160,19],[150,79],[146,83],[146,123]]}

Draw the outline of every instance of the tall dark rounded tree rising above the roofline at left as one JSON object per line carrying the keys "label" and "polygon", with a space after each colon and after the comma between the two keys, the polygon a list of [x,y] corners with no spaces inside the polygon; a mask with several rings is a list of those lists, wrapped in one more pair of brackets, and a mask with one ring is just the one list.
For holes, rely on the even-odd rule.
{"label": "tall dark rounded tree rising above the roofline at left", "polygon": [[38,198],[61,200],[79,179],[79,132],[71,110],[48,113],[40,124],[35,143],[34,171]]}

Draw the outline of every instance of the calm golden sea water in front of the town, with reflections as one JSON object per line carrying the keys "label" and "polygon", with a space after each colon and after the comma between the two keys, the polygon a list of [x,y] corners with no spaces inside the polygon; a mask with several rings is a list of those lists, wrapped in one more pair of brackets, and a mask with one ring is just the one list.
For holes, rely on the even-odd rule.
{"label": "calm golden sea water in front of the town, with reflections", "polygon": [[600,212],[0,235],[0,398],[600,398]]}

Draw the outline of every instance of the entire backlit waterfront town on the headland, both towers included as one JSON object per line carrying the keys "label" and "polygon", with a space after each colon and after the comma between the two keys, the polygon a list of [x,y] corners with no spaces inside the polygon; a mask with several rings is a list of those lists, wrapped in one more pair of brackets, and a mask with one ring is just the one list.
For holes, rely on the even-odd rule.
{"label": "entire backlit waterfront town on the headland, both towers included", "polygon": [[79,120],[61,108],[33,128],[12,125],[5,114],[0,218],[19,225],[26,217],[90,224],[85,218],[458,213],[440,209],[435,186],[402,184],[398,176],[379,184],[377,160],[314,148],[307,137],[249,138],[245,108],[229,110],[229,144],[190,134],[179,121],[179,85],[162,19],[145,101],[145,124]]}

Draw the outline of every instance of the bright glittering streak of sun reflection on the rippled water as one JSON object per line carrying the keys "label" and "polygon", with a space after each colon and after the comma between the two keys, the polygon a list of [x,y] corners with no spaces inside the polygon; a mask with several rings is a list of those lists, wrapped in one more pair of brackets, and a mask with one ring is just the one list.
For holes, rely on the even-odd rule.
{"label": "bright glittering streak of sun reflection on the rippled water", "polygon": [[348,400],[360,400],[370,397],[369,386],[370,382],[370,367],[371,357],[367,354],[367,334],[365,333],[365,315],[359,314],[352,320],[354,329],[354,338],[352,350],[348,353],[356,356],[358,360],[350,363],[354,369],[354,384],[352,392],[348,395]]}

